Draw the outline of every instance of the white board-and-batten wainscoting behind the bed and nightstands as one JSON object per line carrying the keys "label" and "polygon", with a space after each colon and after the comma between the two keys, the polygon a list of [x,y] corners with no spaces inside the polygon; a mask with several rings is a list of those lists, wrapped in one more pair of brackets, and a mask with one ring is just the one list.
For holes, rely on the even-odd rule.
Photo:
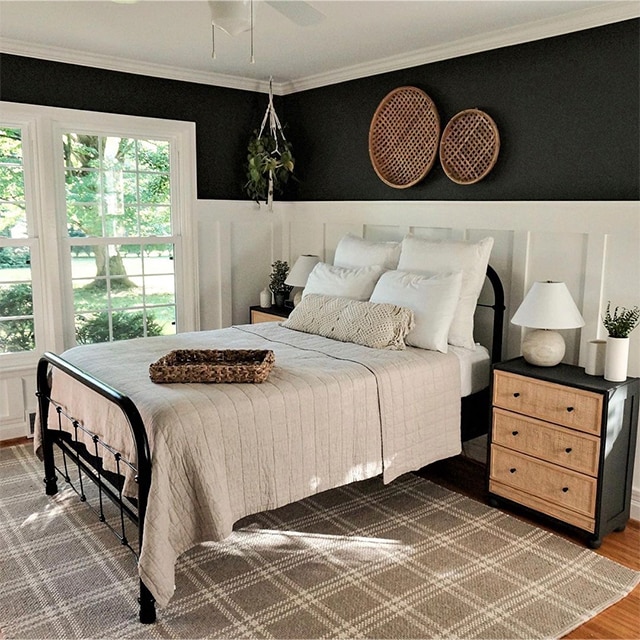
{"label": "white board-and-batten wainscoting behind the bed and nightstands", "polygon": [[[491,264],[505,289],[503,357],[520,354],[523,330],[510,324],[536,280],[567,283],[585,319],[563,331],[565,362],[584,366],[586,344],[604,338],[607,301],[640,304],[638,202],[276,202],[199,201],[201,326],[246,322],[258,304],[275,259],[305,253],[332,262],[338,240],[351,231],[370,240],[429,238],[495,244]],[[483,293],[483,297],[486,293]],[[482,321],[481,321],[482,323]],[[476,338],[484,341],[486,329]],[[631,334],[629,375],[640,376],[640,329]],[[632,515],[640,520],[640,445],[636,449]]]}

